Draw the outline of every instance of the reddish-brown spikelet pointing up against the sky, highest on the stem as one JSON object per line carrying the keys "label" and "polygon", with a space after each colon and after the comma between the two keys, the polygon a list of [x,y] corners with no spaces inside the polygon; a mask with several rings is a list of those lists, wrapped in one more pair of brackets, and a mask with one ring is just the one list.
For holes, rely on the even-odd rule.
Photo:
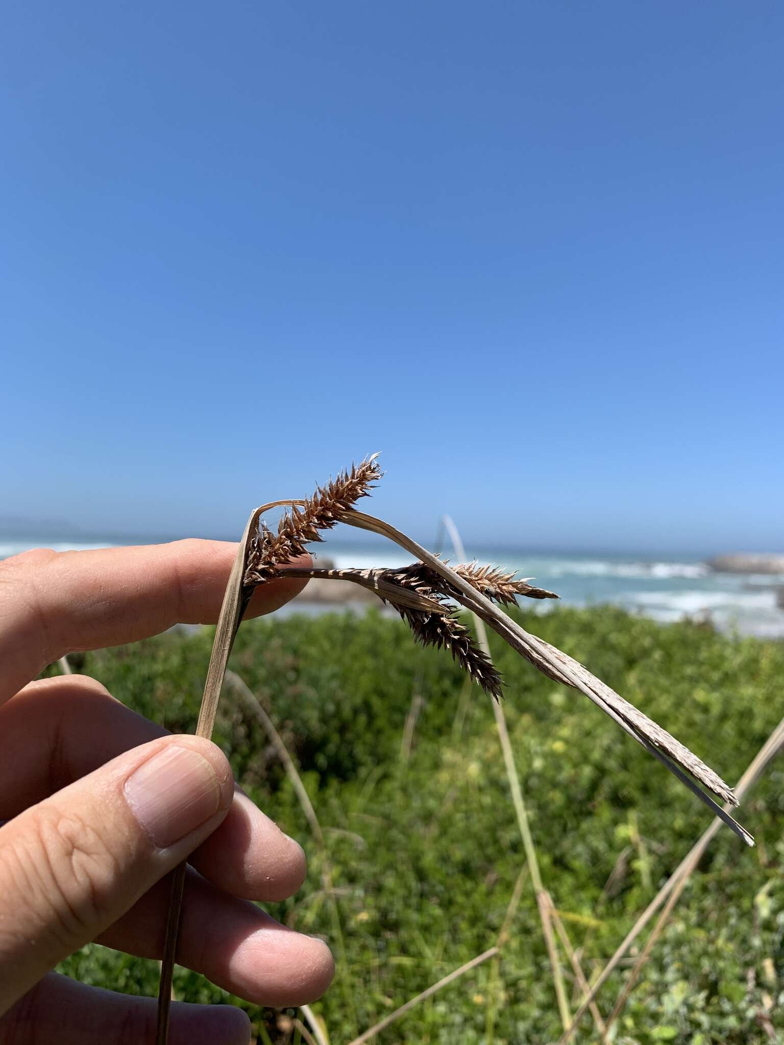
{"label": "reddish-brown spikelet pointing up against the sky, highest on the stem", "polygon": [[276,566],[302,555],[306,543],[321,540],[320,530],[330,530],[340,522],[341,515],[360,497],[366,497],[373,483],[381,479],[377,457],[373,454],[362,464],[352,465],[350,471],[340,472],[319,487],[303,507],[292,506],[280,519],[276,534],[262,524],[251,541],[244,583],[247,586],[263,584],[275,576]]}

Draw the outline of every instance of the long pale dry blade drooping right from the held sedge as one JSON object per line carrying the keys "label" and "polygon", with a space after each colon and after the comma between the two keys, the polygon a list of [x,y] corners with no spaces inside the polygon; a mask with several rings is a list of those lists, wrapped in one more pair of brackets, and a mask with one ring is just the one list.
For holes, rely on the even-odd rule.
{"label": "long pale dry blade drooping right from the held sedge", "polygon": [[[650,751],[675,776],[678,777],[697,797],[700,798],[721,820],[742,838],[753,845],[754,839],[748,832],[737,823],[716,802],[698,788],[686,775],[690,773],[707,788],[718,794],[725,802],[737,805],[732,789],[713,769],[698,759],[688,747],[685,747],[674,737],[670,736],[658,723],[641,711],[624,700],[608,686],[592,675],[586,668],[568,656],[549,643],[529,634],[515,621],[500,610],[481,591],[478,591],[468,581],[460,577],[454,570],[431,555],[425,549],[412,540],[406,534],[385,522],[365,515],[362,512],[350,511],[343,515],[343,521],[361,530],[369,530],[383,534],[395,543],[417,556],[459,593],[461,603],[482,617],[509,645],[517,650],[530,664],[555,681],[571,686],[584,693],[598,707],[616,721],[622,729],[639,744]],[[681,768],[683,767],[683,768]],[[686,770],[686,772],[684,772]]]}

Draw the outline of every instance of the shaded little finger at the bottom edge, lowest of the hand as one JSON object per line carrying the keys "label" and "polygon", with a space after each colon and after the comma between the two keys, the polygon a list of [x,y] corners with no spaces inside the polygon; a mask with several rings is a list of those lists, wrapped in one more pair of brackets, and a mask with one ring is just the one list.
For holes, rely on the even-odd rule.
{"label": "shaded little finger at the bottom edge, lowest of the hand", "polygon": [[[0,1041],[25,1045],[153,1045],[155,998],[135,998],[50,973],[0,1017]],[[248,1045],[251,1024],[231,1005],[174,1002],[169,1045]]]}

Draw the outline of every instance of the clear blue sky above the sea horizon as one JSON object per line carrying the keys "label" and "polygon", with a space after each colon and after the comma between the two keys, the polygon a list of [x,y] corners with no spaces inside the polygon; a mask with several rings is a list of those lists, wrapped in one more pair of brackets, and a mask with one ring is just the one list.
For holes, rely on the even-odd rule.
{"label": "clear blue sky above the sea horizon", "polygon": [[5,6],[0,516],[782,549],[784,8]]}

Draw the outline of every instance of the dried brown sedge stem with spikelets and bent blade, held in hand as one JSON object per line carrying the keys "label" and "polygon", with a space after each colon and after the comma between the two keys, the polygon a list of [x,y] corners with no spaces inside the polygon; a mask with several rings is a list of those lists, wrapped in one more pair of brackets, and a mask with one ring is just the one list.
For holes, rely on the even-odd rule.
{"label": "dried brown sedge stem with spikelets and bent blade, held in hand", "polygon": [[[579,690],[625,733],[646,748],[678,777],[716,816],[747,844],[754,839],[706,791],[737,806],[732,789],[721,777],[653,722],[639,709],[620,697],[568,654],[525,631],[500,606],[515,604],[517,596],[555,599],[552,591],[532,587],[528,580],[515,579],[492,566],[476,562],[449,566],[390,524],[359,512],[354,507],[368,496],[382,478],[377,455],[341,472],[317,489],[307,500],[276,501],[257,508],[248,520],[237,550],[234,566],[221,608],[212,655],[207,671],[198,736],[210,737],[217,711],[221,686],[234,637],[254,588],[279,577],[320,577],[351,581],[373,590],[383,602],[393,606],[411,628],[414,637],[425,646],[446,648],[467,674],[495,699],[502,693],[502,679],[489,657],[477,646],[458,617],[459,607],[476,613],[497,634],[549,678]],[[286,506],[273,533],[261,519],[272,508]],[[321,532],[338,522],[381,534],[406,549],[416,560],[399,570],[318,570],[293,565],[305,552],[305,545],[320,541]],[[698,783],[695,783],[698,782]],[[158,1000],[157,1045],[168,1037],[168,1009],[171,972],[177,950],[180,906],[185,864],[172,876],[171,897],[166,926],[166,943],[161,965],[161,989]]]}

